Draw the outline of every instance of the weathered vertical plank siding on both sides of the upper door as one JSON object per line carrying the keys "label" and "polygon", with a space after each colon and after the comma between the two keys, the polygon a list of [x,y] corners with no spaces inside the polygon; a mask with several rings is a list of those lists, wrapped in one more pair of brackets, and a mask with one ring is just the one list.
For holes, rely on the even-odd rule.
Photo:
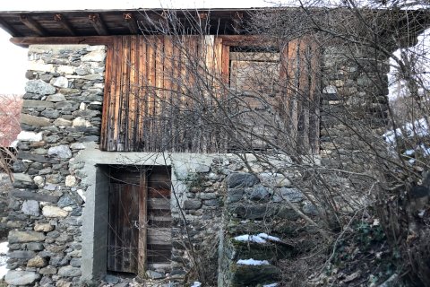
{"label": "weathered vertical plank siding on both sides of the upper door", "polygon": [[[288,141],[275,135],[279,129],[271,134],[280,147],[318,152],[318,49],[304,38],[290,41],[279,54],[278,94],[271,101],[276,101],[276,117],[282,122],[276,128],[285,131]],[[228,82],[234,82],[232,63],[228,46],[213,36],[116,37],[107,53],[101,148],[228,152],[232,135],[219,118],[225,117],[220,106],[231,103],[223,97]],[[255,126],[258,121],[256,117],[251,130],[266,132]]]}

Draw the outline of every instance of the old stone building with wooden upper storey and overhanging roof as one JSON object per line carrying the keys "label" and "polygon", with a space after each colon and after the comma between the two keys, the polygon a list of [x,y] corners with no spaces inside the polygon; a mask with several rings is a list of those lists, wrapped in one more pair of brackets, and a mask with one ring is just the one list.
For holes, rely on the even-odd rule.
{"label": "old stone building with wooden upper storey and overhanging roof", "polygon": [[278,280],[274,262],[294,253],[282,234],[306,225],[297,211],[318,221],[279,151],[323,164],[348,146],[347,105],[385,125],[374,82],[387,86],[388,65],[365,48],[351,59],[339,43],[250,35],[250,12],[0,13],[30,64],[6,283]]}

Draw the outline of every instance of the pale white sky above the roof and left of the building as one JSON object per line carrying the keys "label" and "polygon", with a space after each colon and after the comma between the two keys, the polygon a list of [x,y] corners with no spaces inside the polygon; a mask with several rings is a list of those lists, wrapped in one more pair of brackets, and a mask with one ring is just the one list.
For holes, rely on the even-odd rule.
{"label": "pale white sky above the roof and left of the building", "polygon": [[[133,8],[250,8],[267,7],[277,0],[0,0],[0,11],[47,11]],[[24,92],[27,49],[9,42],[10,35],[0,28],[0,94]]]}

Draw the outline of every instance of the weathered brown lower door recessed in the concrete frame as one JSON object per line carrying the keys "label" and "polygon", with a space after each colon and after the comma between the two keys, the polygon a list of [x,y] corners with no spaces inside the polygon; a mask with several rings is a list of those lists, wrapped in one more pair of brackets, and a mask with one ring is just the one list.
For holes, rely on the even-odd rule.
{"label": "weathered brown lower door recessed in the concrete frame", "polygon": [[169,170],[111,168],[107,270],[143,274],[169,265]]}

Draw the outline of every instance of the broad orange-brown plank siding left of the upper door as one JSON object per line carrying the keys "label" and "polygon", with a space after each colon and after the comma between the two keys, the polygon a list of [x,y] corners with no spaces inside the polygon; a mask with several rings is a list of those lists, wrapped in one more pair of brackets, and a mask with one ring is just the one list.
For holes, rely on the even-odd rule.
{"label": "broad orange-brown plank siding left of the upper door", "polygon": [[193,117],[197,105],[187,94],[198,95],[203,80],[217,89],[228,71],[222,57],[222,41],[213,36],[115,37],[107,53],[101,149],[218,152],[216,131]]}

